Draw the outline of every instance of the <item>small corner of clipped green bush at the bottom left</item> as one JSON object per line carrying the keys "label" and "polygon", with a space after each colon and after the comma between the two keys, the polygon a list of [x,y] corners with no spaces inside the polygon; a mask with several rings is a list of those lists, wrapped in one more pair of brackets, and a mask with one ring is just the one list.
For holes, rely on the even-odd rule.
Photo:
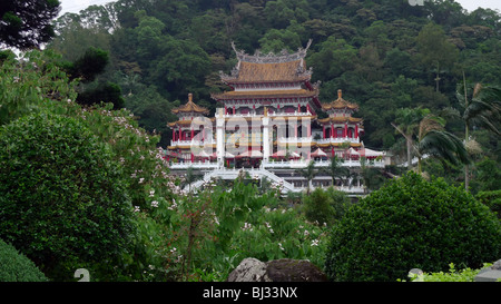
{"label": "small corner of clipped green bush at the bottom left", "polygon": [[24,255],[0,239],[0,282],[46,282],[47,277]]}

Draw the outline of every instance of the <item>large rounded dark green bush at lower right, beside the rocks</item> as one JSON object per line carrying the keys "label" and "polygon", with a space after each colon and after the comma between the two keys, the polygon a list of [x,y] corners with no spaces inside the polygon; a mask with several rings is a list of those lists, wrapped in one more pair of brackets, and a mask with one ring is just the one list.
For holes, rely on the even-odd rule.
{"label": "large rounded dark green bush at lower right, beside the rocks", "polygon": [[501,224],[463,188],[409,173],[353,206],[330,242],[332,281],[394,282],[411,268],[479,268],[499,259]]}

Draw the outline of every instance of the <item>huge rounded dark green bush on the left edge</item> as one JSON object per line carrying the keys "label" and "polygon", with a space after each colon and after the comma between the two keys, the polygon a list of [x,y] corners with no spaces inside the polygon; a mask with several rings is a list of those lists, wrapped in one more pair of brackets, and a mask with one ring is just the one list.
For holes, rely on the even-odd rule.
{"label": "huge rounded dark green bush on the left edge", "polygon": [[108,146],[82,122],[41,112],[2,126],[0,147],[0,238],[57,281],[116,265],[132,207]]}

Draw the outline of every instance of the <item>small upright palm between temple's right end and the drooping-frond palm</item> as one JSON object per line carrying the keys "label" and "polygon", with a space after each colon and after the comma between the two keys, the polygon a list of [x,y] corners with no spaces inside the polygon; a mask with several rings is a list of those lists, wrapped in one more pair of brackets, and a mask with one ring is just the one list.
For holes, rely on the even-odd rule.
{"label": "small upright palm between temple's right end and the drooping-frond palm", "polygon": [[391,122],[391,125],[405,138],[407,148],[407,169],[412,168],[413,137],[418,133],[420,121],[429,114],[429,109],[403,108],[396,110],[396,125]]}

